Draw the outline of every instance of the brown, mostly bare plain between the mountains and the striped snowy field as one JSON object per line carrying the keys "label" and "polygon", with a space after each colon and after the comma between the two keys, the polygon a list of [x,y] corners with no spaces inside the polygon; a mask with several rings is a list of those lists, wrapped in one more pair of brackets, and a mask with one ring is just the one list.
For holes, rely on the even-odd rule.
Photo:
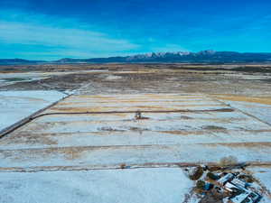
{"label": "brown, mostly bare plain between the mountains and the striped snowy field", "polygon": [[[102,72],[80,72],[104,70]],[[94,64],[2,66],[1,74],[42,72],[50,76],[17,81],[0,90],[74,90],[80,94],[206,93],[266,96],[271,89],[269,65]],[[64,74],[72,71],[70,74]],[[266,103],[266,101],[264,101]],[[267,102],[269,103],[269,102]]]}

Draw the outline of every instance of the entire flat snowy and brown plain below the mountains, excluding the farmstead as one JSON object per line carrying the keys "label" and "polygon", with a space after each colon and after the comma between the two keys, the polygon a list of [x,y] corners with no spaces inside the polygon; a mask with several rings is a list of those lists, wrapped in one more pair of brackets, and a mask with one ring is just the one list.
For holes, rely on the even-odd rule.
{"label": "entire flat snowy and brown plain below the mountains, excluding the farmstead", "polygon": [[3,69],[0,202],[195,203],[184,169],[229,156],[270,202],[268,65]]}

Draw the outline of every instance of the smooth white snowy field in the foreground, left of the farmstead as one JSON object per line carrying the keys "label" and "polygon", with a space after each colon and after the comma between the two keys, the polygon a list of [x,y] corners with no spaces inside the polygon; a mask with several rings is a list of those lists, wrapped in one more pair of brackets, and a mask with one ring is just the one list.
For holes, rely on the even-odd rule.
{"label": "smooth white snowy field in the foreground, left of the farmstead", "polygon": [[0,172],[1,203],[182,203],[181,169]]}

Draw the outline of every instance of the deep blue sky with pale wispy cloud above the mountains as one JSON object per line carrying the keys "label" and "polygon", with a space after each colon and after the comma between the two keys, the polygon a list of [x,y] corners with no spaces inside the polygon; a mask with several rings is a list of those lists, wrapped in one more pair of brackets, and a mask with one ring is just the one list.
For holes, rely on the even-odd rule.
{"label": "deep blue sky with pale wispy cloud above the mountains", "polygon": [[0,58],[271,52],[270,0],[0,0]]}

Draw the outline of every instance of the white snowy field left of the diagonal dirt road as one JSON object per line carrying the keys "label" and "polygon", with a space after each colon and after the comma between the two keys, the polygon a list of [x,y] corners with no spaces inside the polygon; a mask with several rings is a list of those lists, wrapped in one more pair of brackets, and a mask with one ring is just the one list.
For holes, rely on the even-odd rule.
{"label": "white snowy field left of the diagonal dirt road", "polygon": [[0,91],[0,132],[62,97],[57,91]]}

